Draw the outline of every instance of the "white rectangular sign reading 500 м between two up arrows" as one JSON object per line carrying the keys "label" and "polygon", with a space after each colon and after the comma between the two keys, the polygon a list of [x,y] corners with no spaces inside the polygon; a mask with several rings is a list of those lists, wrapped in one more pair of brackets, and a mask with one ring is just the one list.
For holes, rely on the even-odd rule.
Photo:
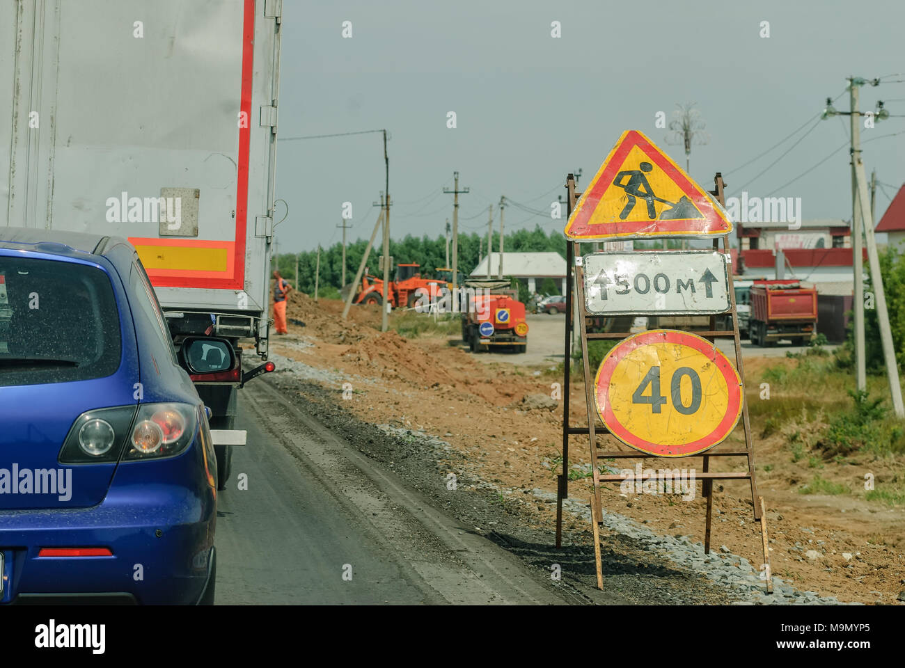
{"label": "white rectangular sign reading 500 \u043c between two up arrows", "polygon": [[729,254],[634,251],[585,255],[585,304],[594,315],[724,313]]}

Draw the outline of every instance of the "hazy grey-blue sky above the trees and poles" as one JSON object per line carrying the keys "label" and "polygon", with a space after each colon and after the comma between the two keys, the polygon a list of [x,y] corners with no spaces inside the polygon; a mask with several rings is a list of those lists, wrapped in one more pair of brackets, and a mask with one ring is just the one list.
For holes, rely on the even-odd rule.
{"label": "hazy grey-blue sky above the trees and poles", "polygon": [[345,202],[348,240],[367,239],[385,187],[379,133],[291,138],[387,129],[394,239],[443,234],[453,171],[470,189],[461,232],[486,234],[500,196],[522,205],[507,206],[507,231],[562,231],[548,212],[567,173],[581,169],[585,186],[625,129],[684,167],[656,122],[691,102],[705,124],[691,148],[702,186],[721,171],[727,196],[800,197],[805,220],[850,220],[849,119],[820,112],[827,97],[849,110],[852,75],[881,78],[860,89],[861,110],[884,100],[892,115],[861,129],[879,220],[905,182],[903,23],[901,0],[283,0],[278,251],[338,242]]}

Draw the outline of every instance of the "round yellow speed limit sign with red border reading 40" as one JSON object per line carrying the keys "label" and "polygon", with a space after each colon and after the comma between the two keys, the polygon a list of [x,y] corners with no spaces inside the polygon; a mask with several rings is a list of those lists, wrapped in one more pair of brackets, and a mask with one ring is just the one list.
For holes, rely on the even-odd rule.
{"label": "round yellow speed limit sign with red border reading 40", "polygon": [[707,339],[653,329],[616,345],[595,382],[597,413],[624,444],[660,457],[702,453],[738,423],[742,384]]}

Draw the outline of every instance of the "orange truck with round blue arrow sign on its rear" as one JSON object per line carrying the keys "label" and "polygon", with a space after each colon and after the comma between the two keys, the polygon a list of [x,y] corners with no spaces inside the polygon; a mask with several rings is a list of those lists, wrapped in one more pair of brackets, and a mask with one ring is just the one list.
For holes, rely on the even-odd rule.
{"label": "orange truck with round blue arrow sign on its rear", "polygon": [[523,353],[528,349],[525,305],[510,284],[508,279],[467,279],[462,285],[467,296],[462,340],[472,352],[494,348]]}

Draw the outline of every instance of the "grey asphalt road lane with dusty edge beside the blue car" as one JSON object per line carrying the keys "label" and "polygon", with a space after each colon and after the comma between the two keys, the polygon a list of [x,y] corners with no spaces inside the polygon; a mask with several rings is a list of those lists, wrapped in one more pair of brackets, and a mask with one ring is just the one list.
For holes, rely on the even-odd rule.
{"label": "grey asphalt road lane with dusty edge beside the blue car", "polygon": [[248,445],[217,501],[217,604],[566,602],[303,404],[263,379],[239,395]]}

